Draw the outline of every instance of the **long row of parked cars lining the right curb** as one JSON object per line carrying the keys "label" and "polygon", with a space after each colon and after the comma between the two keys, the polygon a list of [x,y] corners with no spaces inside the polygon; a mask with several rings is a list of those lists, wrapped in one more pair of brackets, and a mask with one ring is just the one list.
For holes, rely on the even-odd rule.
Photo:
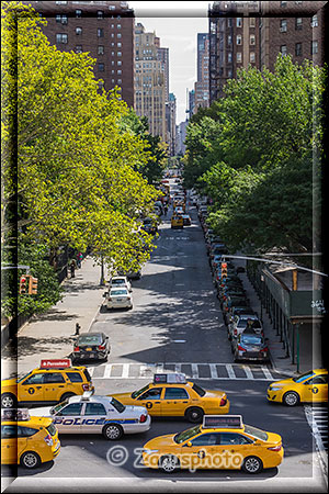
{"label": "long row of parked cars lining the right curb", "polygon": [[208,205],[205,198],[194,198],[197,215],[204,232],[206,252],[213,274],[214,285],[227,326],[227,336],[231,345],[235,362],[240,360],[268,361],[269,348],[262,323],[253,311],[239,273],[245,269],[236,268],[227,260],[229,254],[223,238],[207,225]]}

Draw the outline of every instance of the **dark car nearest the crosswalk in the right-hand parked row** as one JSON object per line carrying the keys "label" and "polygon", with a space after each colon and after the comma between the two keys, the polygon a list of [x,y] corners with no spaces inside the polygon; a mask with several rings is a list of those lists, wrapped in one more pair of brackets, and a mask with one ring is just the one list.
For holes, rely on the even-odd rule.
{"label": "dark car nearest the crosswalk in the right-hand parked row", "polygon": [[234,359],[251,360],[251,361],[268,361],[269,348],[262,335],[251,333],[250,330],[241,333],[234,343]]}

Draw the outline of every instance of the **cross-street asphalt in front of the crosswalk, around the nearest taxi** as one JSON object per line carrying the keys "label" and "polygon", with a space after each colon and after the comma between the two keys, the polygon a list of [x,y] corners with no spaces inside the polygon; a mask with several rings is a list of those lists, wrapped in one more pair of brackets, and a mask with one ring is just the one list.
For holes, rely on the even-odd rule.
{"label": "cross-street asphalt in front of the crosswalk, around the nearest taxi", "polygon": [[[204,386],[204,383],[198,381]],[[216,389],[216,382],[207,388]],[[217,385],[218,388],[218,385]],[[224,386],[219,385],[219,389]],[[237,382],[226,383],[226,391],[231,401],[230,414],[242,415],[246,424],[274,431],[282,436],[285,450],[284,461],[277,469],[264,470],[256,476],[241,471],[212,470],[181,471],[174,475],[164,475],[159,471],[139,468],[140,448],[154,437],[175,434],[193,426],[183,418],[152,418],[151,428],[147,433],[124,436],[121,441],[107,441],[100,435],[61,435],[61,452],[52,469],[46,465],[34,471],[41,476],[90,476],[90,478],[145,478],[179,480],[269,480],[271,478],[311,478],[313,476],[313,441],[305,419],[303,407],[285,408],[268,403],[266,384],[248,382],[240,389]],[[109,453],[109,451],[111,451]],[[109,454],[111,462],[109,462]],[[115,458],[120,464],[115,464]],[[123,463],[123,464],[122,464]],[[31,474],[31,472],[29,472]],[[26,472],[19,468],[19,475]]]}

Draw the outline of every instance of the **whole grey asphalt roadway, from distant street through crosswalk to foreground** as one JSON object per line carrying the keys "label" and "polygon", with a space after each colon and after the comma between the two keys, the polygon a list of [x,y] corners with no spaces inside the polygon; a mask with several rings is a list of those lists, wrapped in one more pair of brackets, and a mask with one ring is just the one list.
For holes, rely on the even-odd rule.
{"label": "whole grey asphalt roadway, from distant street through crosswalk to foreground", "polygon": [[[266,402],[266,386],[282,377],[265,366],[232,362],[203,233],[195,209],[191,213],[193,224],[183,231],[170,228],[170,214],[163,221],[150,262],[144,267],[141,279],[133,281],[133,311],[102,310],[95,318],[91,330],[107,334],[112,345],[106,364],[89,366],[95,392],[141,388],[156,364],[158,369],[182,370],[204,388],[226,391],[230,413],[242,415],[246,424],[280,434],[285,449],[283,463],[254,478],[231,471],[182,471],[163,476],[134,465],[134,450],[152,437],[184,430],[190,424],[154,419],[149,431],[126,436],[120,445],[98,436],[61,436],[61,452],[55,462],[33,472],[19,468],[19,479],[7,492],[44,492],[50,480],[56,490],[49,492],[109,492],[110,487],[113,492],[202,492],[205,485],[206,492],[287,492],[287,486],[290,492],[326,492],[304,407],[288,409]],[[124,464],[114,465],[109,462],[109,450],[113,458],[112,448],[118,446],[124,449],[121,454],[116,450],[114,457],[127,458]],[[2,476],[9,474],[10,469],[2,472]]]}

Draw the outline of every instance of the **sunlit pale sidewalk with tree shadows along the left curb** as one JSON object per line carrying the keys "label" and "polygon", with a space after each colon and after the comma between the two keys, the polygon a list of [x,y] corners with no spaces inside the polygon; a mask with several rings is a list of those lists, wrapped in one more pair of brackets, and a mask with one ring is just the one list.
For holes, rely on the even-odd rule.
{"label": "sunlit pale sidewalk with tree shadows along the left curb", "polygon": [[81,269],[76,270],[76,277],[64,282],[64,289],[63,302],[45,314],[33,316],[19,329],[16,346],[9,343],[3,348],[2,379],[29,372],[38,367],[43,358],[68,357],[77,338],[73,336],[77,323],[81,326],[80,333],[88,333],[103,302],[100,267],[86,258]]}

